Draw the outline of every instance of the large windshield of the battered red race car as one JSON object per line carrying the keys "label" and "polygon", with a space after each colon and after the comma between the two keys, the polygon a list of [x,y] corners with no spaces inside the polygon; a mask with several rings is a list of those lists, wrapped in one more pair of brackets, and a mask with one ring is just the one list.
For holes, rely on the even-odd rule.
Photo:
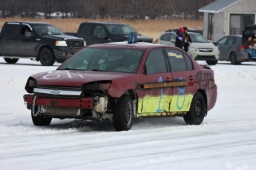
{"label": "large windshield of the battered red race car", "polygon": [[58,69],[135,73],[143,53],[131,49],[85,48]]}

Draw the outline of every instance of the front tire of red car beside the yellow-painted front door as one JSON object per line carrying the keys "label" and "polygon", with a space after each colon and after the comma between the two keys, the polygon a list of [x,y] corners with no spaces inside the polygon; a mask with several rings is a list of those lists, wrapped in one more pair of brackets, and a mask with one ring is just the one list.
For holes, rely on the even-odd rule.
{"label": "front tire of red car beside the yellow-painted front door", "polygon": [[134,105],[131,97],[123,95],[114,107],[113,123],[116,131],[131,129],[134,118]]}

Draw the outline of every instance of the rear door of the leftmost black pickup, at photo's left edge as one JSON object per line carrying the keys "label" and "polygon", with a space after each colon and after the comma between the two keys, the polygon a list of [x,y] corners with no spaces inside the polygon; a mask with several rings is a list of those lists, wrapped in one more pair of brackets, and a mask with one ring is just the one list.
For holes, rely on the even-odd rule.
{"label": "rear door of the leftmost black pickup, at photo's left edge", "polygon": [[4,30],[1,31],[1,55],[13,55],[19,54],[17,47],[17,33],[19,30],[19,23],[8,22],[4,25]]}

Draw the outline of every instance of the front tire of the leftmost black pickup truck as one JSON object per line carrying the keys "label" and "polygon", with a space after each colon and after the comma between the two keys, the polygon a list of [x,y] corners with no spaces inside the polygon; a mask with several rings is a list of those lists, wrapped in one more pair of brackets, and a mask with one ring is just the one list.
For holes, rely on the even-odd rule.
{"label": "front tire of the leftmost black pickup truck", "polygon": [[40,50],[39,59],[42,66],[52,66],[55,62],[53,51],[47,47],[44,47],[42,50]]}

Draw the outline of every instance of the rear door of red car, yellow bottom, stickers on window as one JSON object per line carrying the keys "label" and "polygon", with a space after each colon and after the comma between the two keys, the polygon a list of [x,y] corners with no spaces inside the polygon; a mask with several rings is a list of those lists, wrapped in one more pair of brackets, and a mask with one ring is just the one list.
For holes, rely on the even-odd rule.
{"label": "rear door of red car, yellow bottom, stickers on window", "polygon": [[165,52],[172,75],[170,112],[175,114],[187,112],[190,109],[200,73],[193,69],[191,58],[185,52],[175,49],[166,49]]}

